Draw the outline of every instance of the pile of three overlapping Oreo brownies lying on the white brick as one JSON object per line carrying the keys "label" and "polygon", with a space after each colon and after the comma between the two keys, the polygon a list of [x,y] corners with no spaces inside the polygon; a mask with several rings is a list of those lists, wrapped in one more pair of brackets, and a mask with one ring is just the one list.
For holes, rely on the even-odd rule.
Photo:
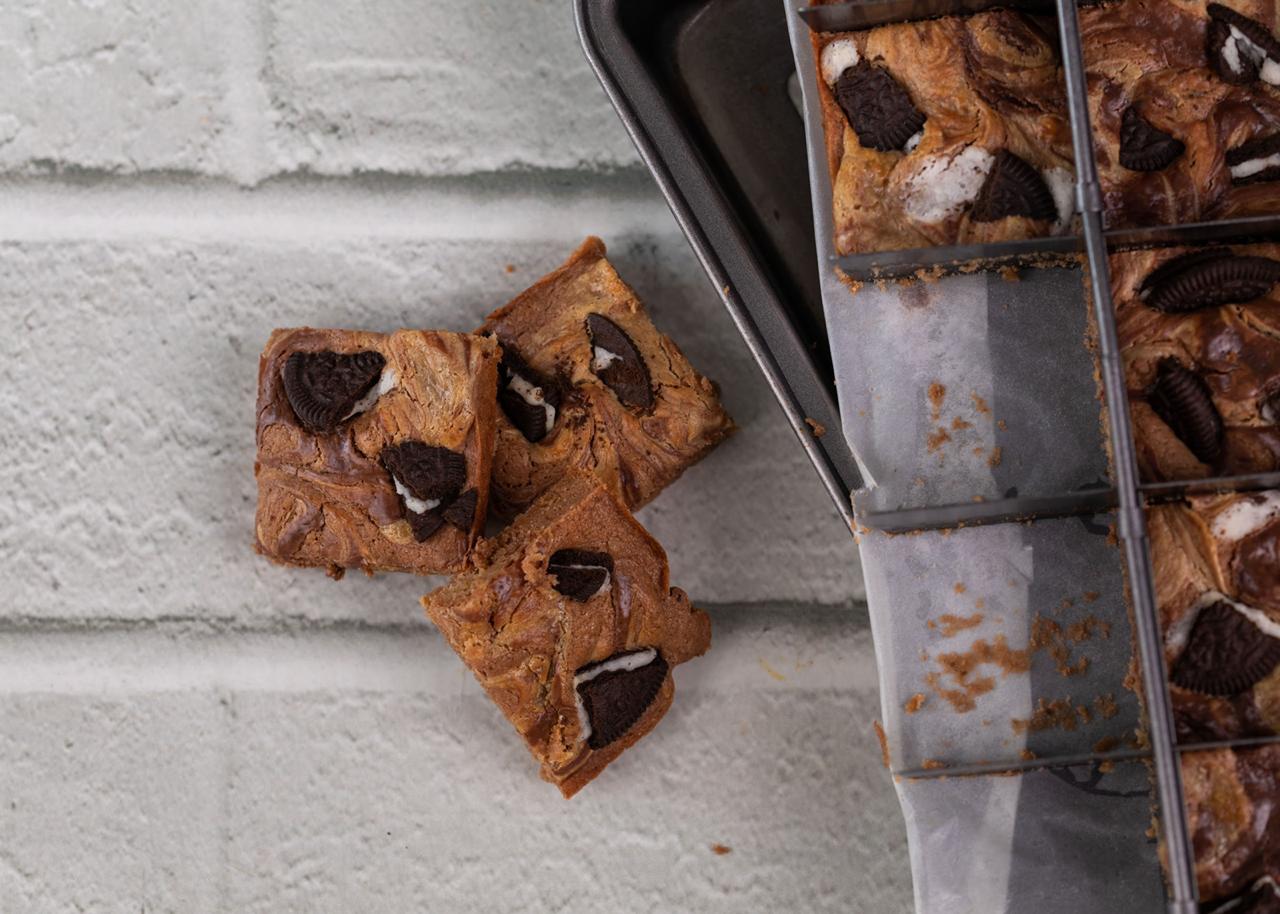
{"label": "pile of three overlapping Oreo brownies lying on the white brick", "polygon": [[[475,334],[271,334],[256,548],[334,577],[452,573],[428,616],[572,796],[710,644],[631,508],[732,430],[589,238]],[[522,512],[492,540],[490,492]]]}

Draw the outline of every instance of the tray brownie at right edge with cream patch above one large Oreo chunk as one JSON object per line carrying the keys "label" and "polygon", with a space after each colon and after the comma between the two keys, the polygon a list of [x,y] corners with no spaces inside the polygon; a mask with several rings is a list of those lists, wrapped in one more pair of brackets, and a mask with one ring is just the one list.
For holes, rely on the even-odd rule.
{"label": "tray brownie at right edge with cream patch above one large Oreo chunk", "polygon": [[1147,512],[1181,741],[1280,734],[1280,492]]}

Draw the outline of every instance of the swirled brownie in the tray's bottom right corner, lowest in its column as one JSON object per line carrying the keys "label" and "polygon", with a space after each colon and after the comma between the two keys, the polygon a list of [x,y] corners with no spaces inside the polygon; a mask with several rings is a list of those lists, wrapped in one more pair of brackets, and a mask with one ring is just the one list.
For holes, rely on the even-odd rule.
{"label": "swirled brownie in the tray's bottom right corner, lowest in its column", "polygon": [[1201,910],[1280,910],[1280,745],[1183,757]]}

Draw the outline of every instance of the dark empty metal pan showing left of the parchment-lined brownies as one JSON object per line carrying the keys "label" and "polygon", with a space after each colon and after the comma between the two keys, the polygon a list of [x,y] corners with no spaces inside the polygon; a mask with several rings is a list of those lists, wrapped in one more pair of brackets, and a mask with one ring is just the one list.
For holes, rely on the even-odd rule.
{"label": "dark empty metal pan showing left of the parchment-lined brownies", "polygon": [[588,60],[851,527],[861,475],[836,406],[785,17],[776,0],[575,0],[575,13]]}

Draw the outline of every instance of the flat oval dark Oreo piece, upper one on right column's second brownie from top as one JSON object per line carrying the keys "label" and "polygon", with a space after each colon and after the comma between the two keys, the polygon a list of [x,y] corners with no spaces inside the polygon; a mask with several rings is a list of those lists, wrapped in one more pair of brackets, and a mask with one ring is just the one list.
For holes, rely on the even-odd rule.
{"label": "flat oval dark Oreo piece, upper one on right column's second brownie from top", "polygon": [[1174,257],[1148,275],[1139,297],[1157,311],[1185,314],[1202,307],[1243,305],[1280,282],[1280,261],[1240,256],[1226,248]]}

